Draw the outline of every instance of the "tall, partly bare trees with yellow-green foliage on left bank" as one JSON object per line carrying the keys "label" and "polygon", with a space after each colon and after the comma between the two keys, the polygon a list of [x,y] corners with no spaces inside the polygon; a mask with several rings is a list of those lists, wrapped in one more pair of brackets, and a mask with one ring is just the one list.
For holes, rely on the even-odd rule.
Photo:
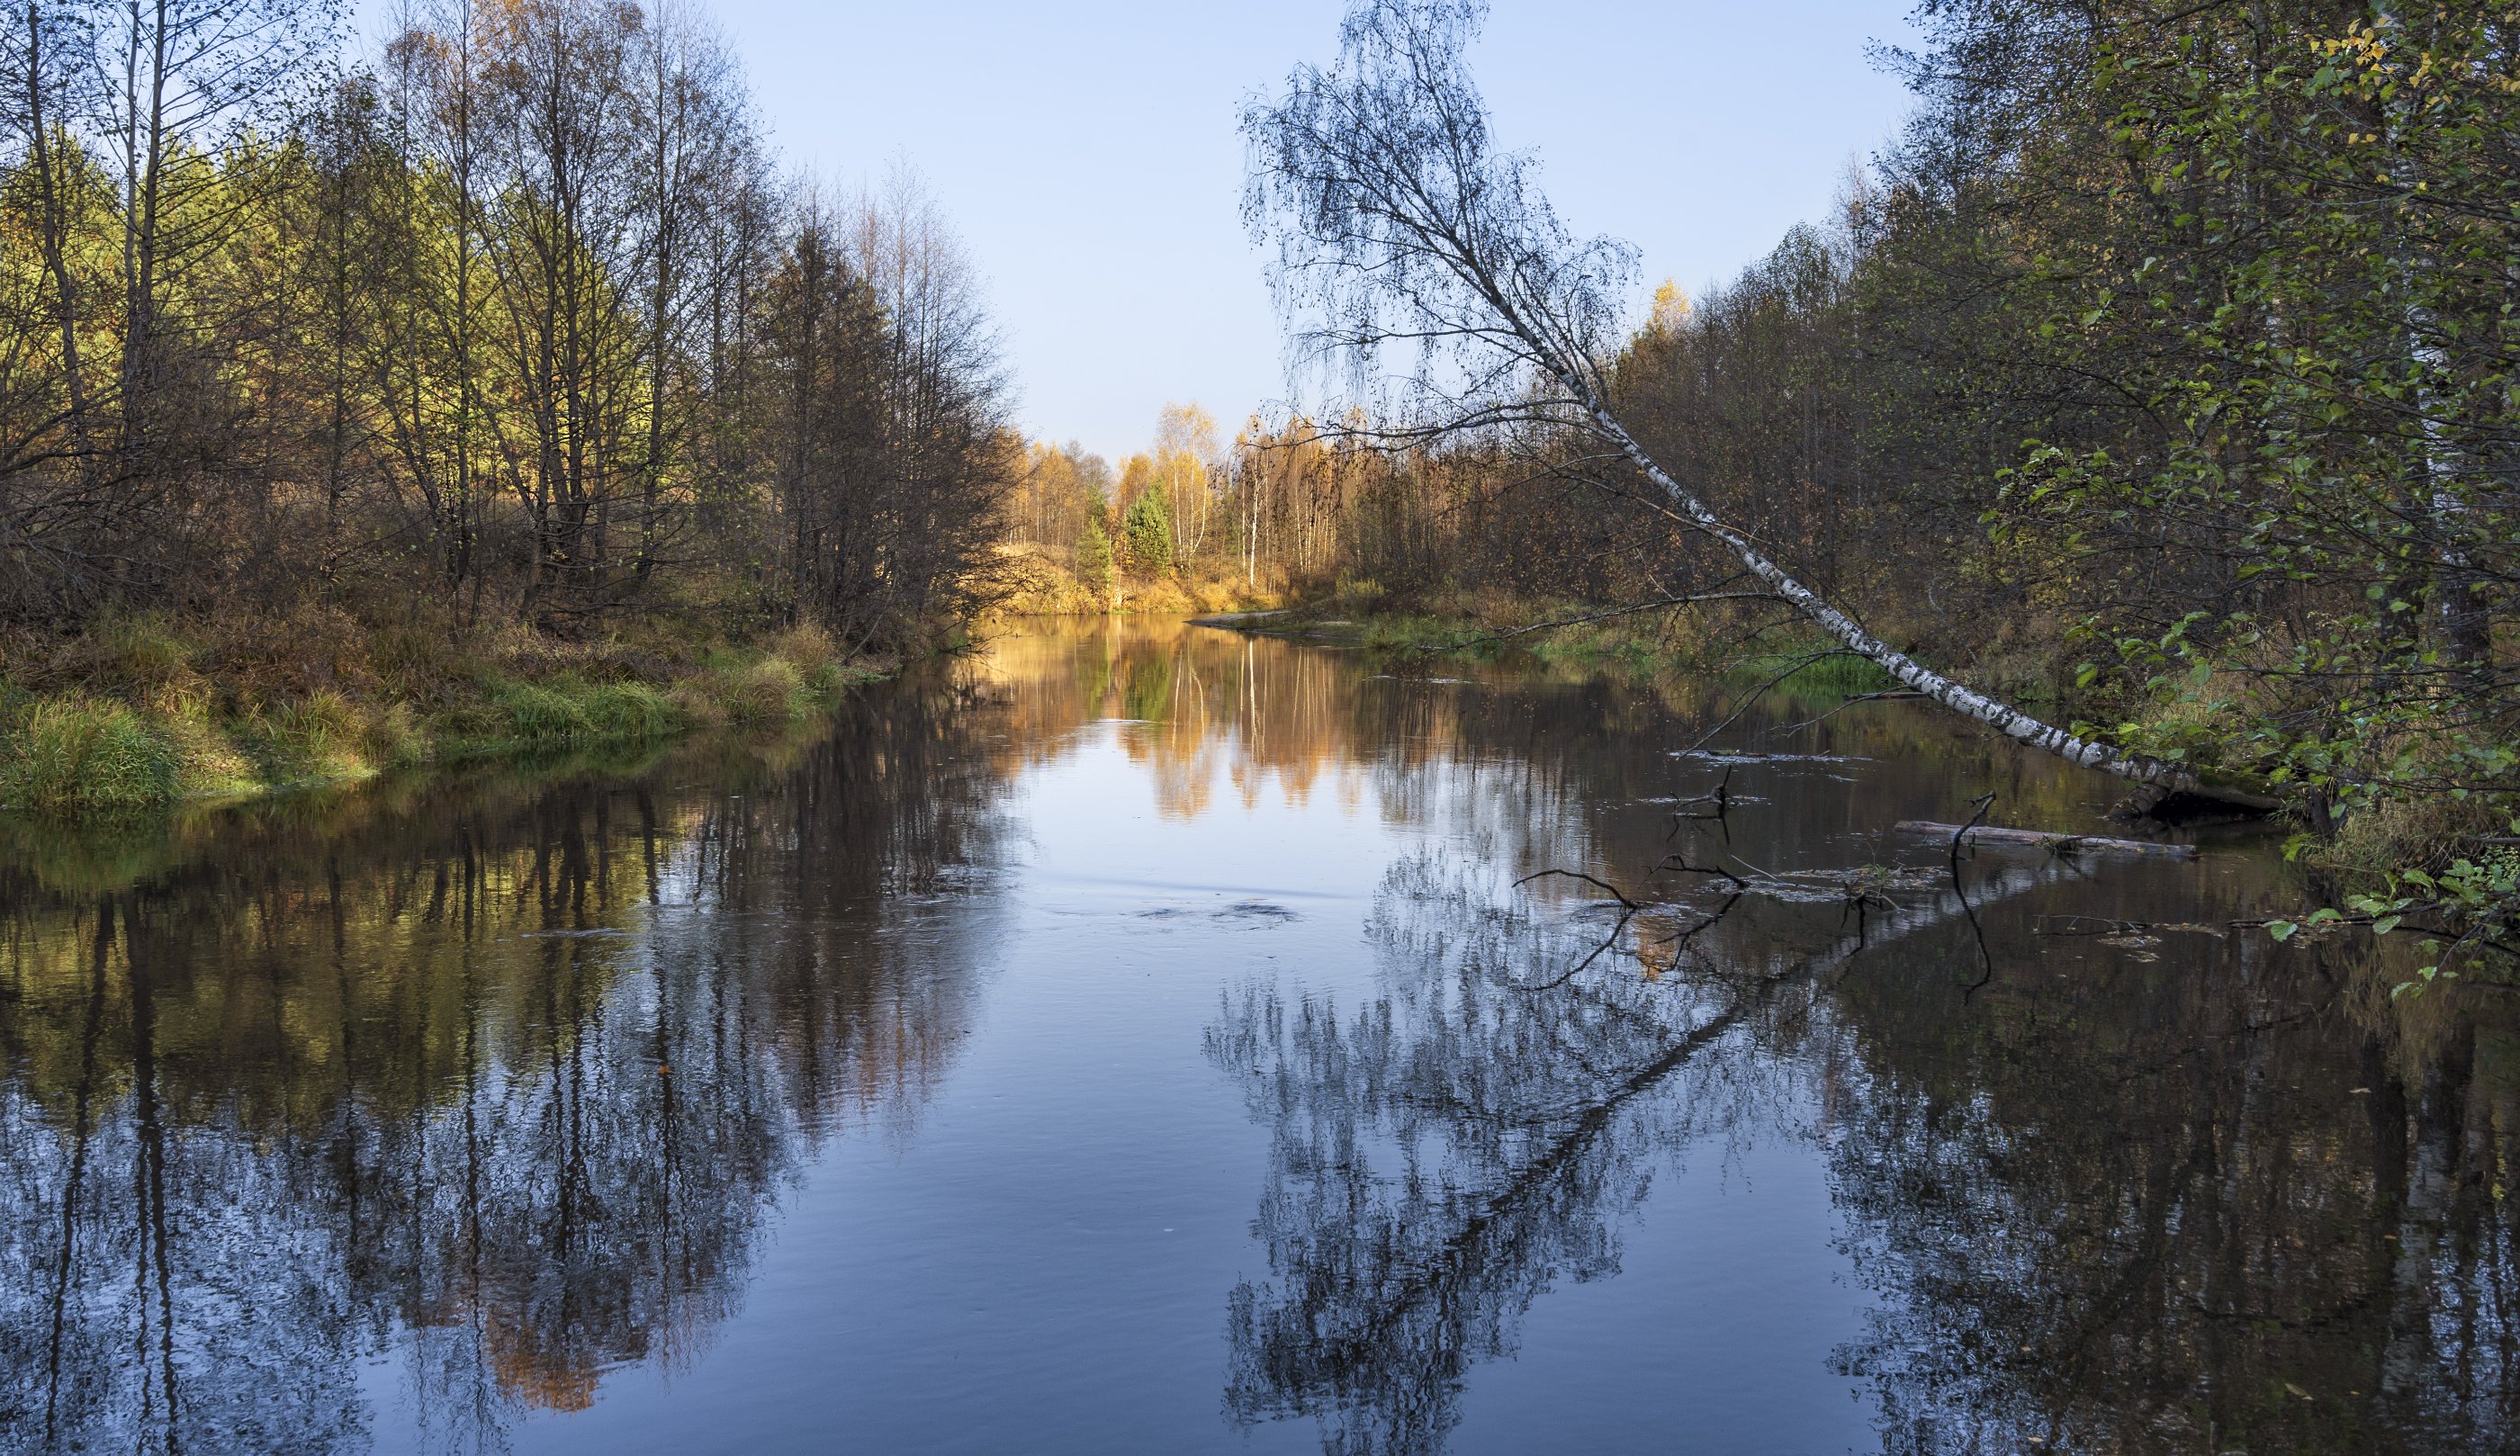
{"label": "tall, partly bare trees with yellow-green foliage on left bank", "polygon": [[[915,184],[781,171],[680,0],[30,0],[0,35],[0,627],[970,607],[1021,466]],[[33,652],[33,647],[28,647]]]}

